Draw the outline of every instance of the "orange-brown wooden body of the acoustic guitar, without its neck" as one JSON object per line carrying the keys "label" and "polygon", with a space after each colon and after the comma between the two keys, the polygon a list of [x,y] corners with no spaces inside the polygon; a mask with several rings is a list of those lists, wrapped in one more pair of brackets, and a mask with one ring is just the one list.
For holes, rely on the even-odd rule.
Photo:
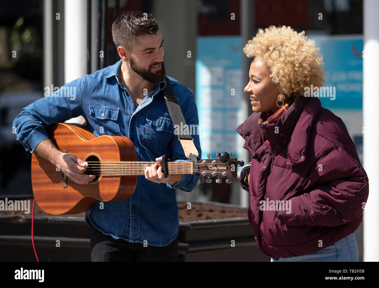
{"label": "orange-brown wooden body of the acoustic guitar, without its neck", "polygon": [[[55,123],[47,129],[53,144],[61,151],[83,161],[137,161],[133,142],[125,136],[96,137],[89,129]],[[97,201],[123,201],[132,196],[137,176],[97,176],[89,184],[77,184],[66,177],[63,188],[61,172],[52,163],[33,153],[31,181],[38,205],[47,213],[75,214]]]}

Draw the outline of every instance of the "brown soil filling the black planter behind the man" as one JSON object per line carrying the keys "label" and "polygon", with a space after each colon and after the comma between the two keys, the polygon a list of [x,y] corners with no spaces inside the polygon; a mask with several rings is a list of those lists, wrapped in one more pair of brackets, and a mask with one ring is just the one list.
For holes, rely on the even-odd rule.
{"label": "brown soil filling the black planter behind the man", "polygon": [[[9,199],[10,200],[10,199]],[[0,211],[0,214],[10,215],[31,215],[33,207],[33,198],[25,198],[23,200],[30,200],[30,214],[25,214],[24,211]],[[178,203],[179,208],[179,221],[198,221],[198,220],[213,220],[213,219],[226,219],[226,218],[244,218],[247,217],[247,209],[238,209],[234,207],[222,207],[210,204],[191,203],[191,209],[187,209],[187,203]],[[50,216],[37,202],[34,206],[34,215]],[[55,215],[55,216],[70,216],[70,217],[85,217],[85,212],[70,215]]]}

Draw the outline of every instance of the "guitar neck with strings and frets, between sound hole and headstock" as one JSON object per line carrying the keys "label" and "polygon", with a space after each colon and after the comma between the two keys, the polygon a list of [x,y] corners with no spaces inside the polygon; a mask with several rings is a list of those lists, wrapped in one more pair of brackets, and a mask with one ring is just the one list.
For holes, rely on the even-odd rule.
{"label": "guitar neck with strings and frets, between sound hole and headstock", "polygon": [[[162,167],[162,162],[128,162],[128,161],[100,161],[88,162],[86,174],[101,174],[102,176],[128,176],[128,175],[144,175],[146,167],[158,164]],[[167,173],[176,174],[192,174],[192,162],[167,162]]]}

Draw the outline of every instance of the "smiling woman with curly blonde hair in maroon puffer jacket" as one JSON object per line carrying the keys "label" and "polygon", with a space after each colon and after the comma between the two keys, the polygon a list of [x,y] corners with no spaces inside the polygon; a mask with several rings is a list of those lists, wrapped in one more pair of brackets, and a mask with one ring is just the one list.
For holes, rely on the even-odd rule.
{"label": "smiling woman with curly blonde hair in maroon puffer jacket", "polygon": [[358,261],[368,178],[343,121],[313,93],[324,63],[304,34],[270,26],[243,49],[254,58],[244,89],[254,113],[236,129],[251,153],[248,217],[272,262]]}

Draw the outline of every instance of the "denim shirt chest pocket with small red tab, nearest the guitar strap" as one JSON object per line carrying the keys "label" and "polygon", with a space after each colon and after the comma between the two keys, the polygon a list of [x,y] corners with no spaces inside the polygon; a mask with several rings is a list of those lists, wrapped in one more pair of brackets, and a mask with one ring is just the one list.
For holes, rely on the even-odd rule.
{"label": "denim shirt chest pocket with small red tab, nearest the guitar strap", "polygon": [[174,135],[174,123],[166,117],[146,115],[142,145],[157,154],[171,153],[170,140]]}

